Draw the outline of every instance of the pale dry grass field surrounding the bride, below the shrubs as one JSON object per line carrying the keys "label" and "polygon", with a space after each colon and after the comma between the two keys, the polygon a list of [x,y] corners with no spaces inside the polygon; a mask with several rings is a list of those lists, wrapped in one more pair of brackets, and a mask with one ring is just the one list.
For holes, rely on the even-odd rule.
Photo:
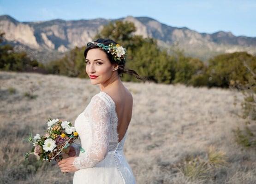
{"label": "pale dry grass field surrounding the bride, below the shrubs", "polygon": [[[255,184],[256,152],[235,142],[232,129],[243,95],[229,89],[124,82],[133,115],[124,153],[137,184]],[[0,72],[0,183],[71,184],[56,163],[23,154],[30,132],[49,117],[74,122],[100,92],[89,80]],[[238,104],[234,105],[234,96]]]}

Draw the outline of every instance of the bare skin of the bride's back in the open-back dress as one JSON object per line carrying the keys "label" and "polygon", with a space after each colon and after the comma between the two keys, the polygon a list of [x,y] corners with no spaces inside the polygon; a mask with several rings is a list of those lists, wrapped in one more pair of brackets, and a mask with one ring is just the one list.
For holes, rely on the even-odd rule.
{"label": "bare skin of the bride's back in the open-back dress", "polygon": [[114,101],[116,106],[116,113],[118,117],[117,132],[119,134],[120,142],[125,136],[125,132],[130,124],[132,116],[133,98],[131,92],[125,87],[123,90],[117,92],[106,92]]}

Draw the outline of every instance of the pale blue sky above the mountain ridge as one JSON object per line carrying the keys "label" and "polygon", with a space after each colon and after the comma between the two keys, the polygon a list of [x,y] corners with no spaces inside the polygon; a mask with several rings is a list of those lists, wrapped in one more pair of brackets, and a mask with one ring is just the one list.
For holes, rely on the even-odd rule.
{"label": "pale blue sky above the mountain ridge", "polygon": [[151,17],[199,33],[256,37],[256,0],[0,0],[0,15],[20,22]]}

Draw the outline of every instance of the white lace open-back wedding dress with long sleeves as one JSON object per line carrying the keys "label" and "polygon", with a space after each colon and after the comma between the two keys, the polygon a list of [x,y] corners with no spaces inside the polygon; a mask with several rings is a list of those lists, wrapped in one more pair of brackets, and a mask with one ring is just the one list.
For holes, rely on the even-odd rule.
{"label": "white lace open-back wedding dress with long sleeves", "polygon": [[115,103],[106,92],[91,98],[74,125],[80,144],[74,145],[79,155],[74,166],[79,170],[74,174],[73,184],[136,184],[123,153],[127,131],[118,143]]}

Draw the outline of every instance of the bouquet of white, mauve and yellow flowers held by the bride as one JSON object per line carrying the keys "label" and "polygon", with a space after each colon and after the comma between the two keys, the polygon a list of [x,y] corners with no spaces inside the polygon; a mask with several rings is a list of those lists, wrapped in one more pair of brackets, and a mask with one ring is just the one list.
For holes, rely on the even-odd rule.
{"label": "bouquet of white, mauve and yellow flowers held by the bride", "polygon": [[75,127],[72,127],[69,121],[49,118],[47,125],[48,129],[42,137],[36,133],[32,138],[30,133],[28,140],[33,143],[33,148],[30,153],[24,155],[25,159],[28,159],[30,154],[34,154],[40,161],[50,162],[53,159],[60,161],[63,155],[69,152],[69,146],[78,138]]}

